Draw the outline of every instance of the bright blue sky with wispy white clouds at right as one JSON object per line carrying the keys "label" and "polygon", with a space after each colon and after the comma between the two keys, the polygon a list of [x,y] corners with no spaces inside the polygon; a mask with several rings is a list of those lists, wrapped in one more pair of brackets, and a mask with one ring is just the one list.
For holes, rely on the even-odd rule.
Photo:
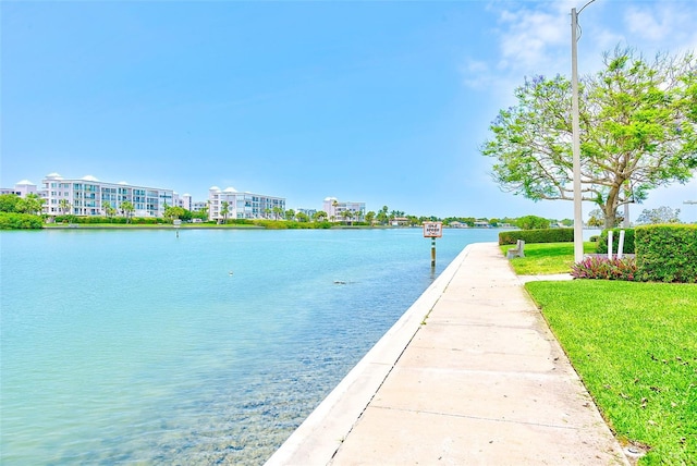
{"label": "bright blue sky with wispy white clouds at right", "polygon": [[[51,172],[321,208],[573,218],[502,193],[478,147],[525,76],[571,74],[586,1],[0,3],[0,184]],[[597,0],[582,74],[604,50],[697,49],[692,0]],[[697,180],[641,209],[697,221]],[[584,218],[591,206],[584,206]]]}

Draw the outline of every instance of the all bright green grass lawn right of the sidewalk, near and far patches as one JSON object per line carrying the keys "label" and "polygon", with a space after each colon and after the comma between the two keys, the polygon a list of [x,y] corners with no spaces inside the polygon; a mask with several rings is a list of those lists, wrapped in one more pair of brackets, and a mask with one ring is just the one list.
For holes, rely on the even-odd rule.
{"label": "all bright green grass lawn right of the sidewalk, near and far patches", "polygon": [[[525,255],[511,260],[518,274],[564,273],[573,244],[526,244]],[[525,289],[619,441],[646,451],[638,464],[697,465],[697,285],[577,279]]]}

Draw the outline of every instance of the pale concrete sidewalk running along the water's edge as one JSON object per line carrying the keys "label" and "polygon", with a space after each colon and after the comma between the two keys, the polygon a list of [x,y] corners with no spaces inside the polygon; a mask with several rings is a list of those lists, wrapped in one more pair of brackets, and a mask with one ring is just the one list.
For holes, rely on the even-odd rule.
{"label": "pale concrete sidewalk running along the water's edge", "polygon": [[327,464],[629,463],[498,245],[479,243],[267,463]]}

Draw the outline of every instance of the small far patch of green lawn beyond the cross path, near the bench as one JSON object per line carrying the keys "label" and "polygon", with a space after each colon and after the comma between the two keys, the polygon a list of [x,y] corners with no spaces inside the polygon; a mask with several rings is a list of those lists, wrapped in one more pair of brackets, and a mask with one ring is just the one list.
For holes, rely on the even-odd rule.
{"label": "small far patch of green lawn beyond the cross path, near the bench", "polygon": [[[584,253],[595,253],[597,243],[584,243]],[[505,253],[515,245],[501,246]],[[525,257],[511,259],[518,275],[568,273],[574,263],[574,243],[531,243],[525,245]]]}

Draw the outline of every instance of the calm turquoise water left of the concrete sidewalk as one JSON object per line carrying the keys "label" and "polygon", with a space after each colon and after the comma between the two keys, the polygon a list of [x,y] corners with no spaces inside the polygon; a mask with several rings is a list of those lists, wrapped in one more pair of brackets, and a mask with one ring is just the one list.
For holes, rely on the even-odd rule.
{"label": "calm turquoise water left of the concrete sidewalk", "polygon": [[497,238],[433,273],[418,229],[2,232],[0,463],[261,464]]}

